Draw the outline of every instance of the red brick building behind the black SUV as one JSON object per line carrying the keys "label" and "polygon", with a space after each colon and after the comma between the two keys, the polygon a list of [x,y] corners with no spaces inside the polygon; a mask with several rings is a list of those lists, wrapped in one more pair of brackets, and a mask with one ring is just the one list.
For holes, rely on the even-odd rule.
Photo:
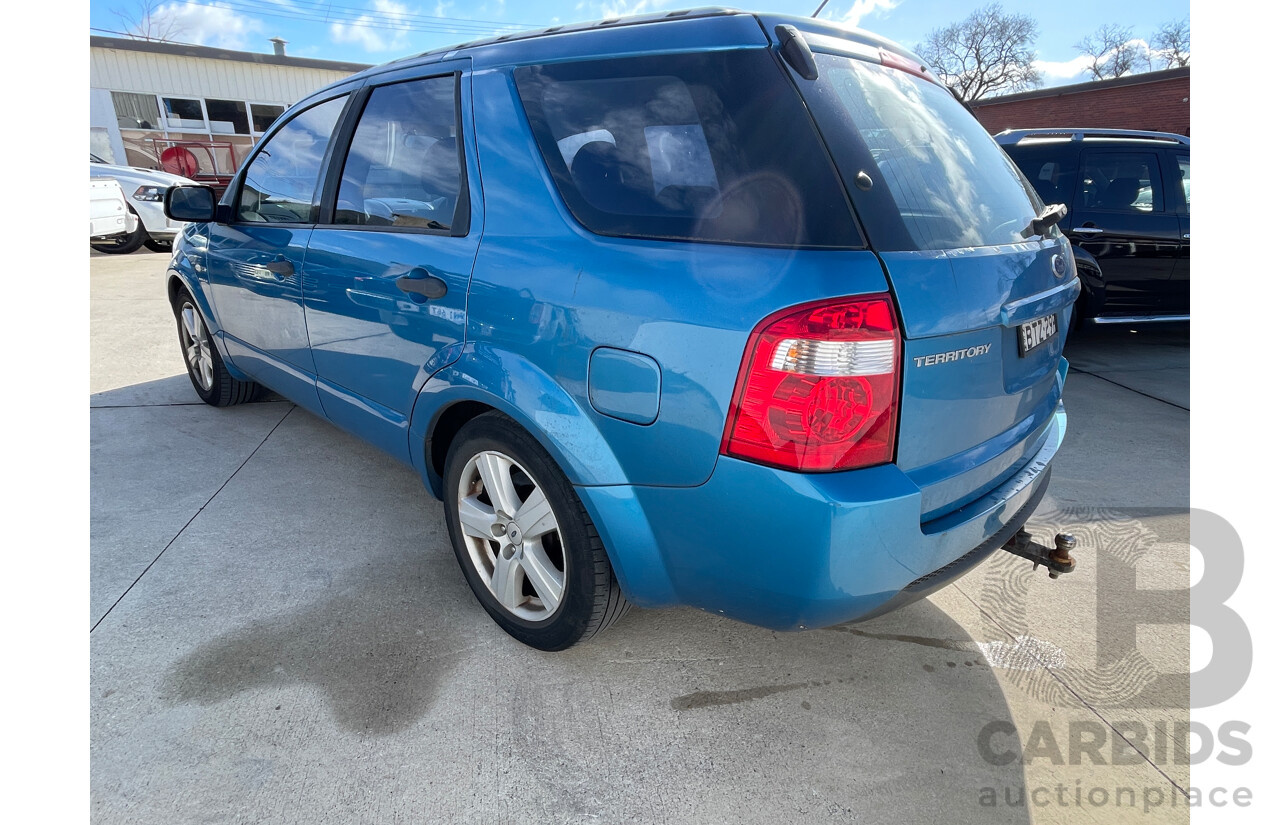
{"label": "red brick building behind the black SUV", "polygon": [[1165,69],[1108,81],[1038,88],[970,104],[995,134],[1004,129],[1088,127],[1192,133],[1192,70]]}

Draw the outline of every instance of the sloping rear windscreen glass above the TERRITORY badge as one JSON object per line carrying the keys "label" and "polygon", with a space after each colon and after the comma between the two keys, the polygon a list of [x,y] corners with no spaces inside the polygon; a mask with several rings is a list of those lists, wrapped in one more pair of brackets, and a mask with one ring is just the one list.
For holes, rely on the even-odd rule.
{"label": "sloping rear windscreen glass above the TERRITORY badge", "polygon": [[854,194],[878,248],[1025,240],[1032,191],[947,90],[865,60],[815,58],[818,81],[805,96],[846,177],[870,178],[868,194]]}

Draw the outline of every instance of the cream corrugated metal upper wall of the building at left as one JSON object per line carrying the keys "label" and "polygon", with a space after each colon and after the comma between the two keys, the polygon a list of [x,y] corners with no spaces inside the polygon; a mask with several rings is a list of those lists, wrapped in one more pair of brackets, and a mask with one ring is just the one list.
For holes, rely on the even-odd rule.
{"label": "cream corrugated metal upper wall of the building at left", "polygon": [[346,72],[90,49],[90,87],[188,97],[293,104]]}

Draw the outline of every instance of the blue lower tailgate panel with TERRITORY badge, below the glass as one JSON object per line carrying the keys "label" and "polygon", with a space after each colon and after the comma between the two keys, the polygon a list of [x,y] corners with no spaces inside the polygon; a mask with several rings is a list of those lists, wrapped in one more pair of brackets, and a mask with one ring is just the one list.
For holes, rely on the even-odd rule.
{"label": "blue lower tailgate panel with TERRITORY badge, below the glass", "polygon": [[[928,521],[977,499],[1039,446],[1062,391],[1079,281],[1061,239],[881,260],[906,336],[897,464],[920,486]],[[1027,352],[1023,325],[1029,343],[1041,342]]]}

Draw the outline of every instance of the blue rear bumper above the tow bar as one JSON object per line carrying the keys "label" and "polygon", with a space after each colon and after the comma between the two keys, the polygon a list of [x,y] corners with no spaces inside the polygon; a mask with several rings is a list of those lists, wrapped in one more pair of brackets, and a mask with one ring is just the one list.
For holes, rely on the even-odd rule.
{"label": "blue rear bumper above the tow bar", "polygon": [[1066,432],[1061,404],[1030,458],[959,510],[920,521],[897,467],[805,475],[721,457],[698,487],[580,487],[623,591],[778,631],[870,618],[963,576],[1021,527]]}

